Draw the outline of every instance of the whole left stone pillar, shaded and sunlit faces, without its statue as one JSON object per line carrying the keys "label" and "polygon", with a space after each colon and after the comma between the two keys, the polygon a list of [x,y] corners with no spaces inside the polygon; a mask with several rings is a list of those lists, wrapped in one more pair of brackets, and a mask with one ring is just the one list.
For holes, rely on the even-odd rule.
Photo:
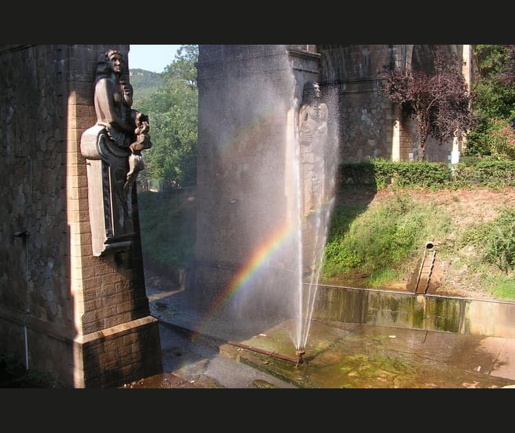
{"label": "whole left stone pillar, shaded and sunlit faces, without its statue", "polygon": [[[76,388],[118,386],[161,368],[139,227],[128,254],[92,256],[80,136],[96,122],[95,63],[109,48],[128,52],[128,45],[0,46],[7,167],[0,184],[1,350]],[[22,231],[27,236],[14,236]],[[123,351],[122,359],[127,346],[131,356]],[[143,366],[150,348],[152,361]]]}

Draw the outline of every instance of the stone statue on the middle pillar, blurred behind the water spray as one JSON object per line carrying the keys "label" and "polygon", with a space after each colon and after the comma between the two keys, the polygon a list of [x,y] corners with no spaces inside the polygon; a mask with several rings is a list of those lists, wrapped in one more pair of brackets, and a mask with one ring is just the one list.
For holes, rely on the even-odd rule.
{"label": "stone statue on the middle pillar, blurred behind the water spray", "polygon": [[324,201],[324,151],[328,135],[328,107],[321,101],[317,82],[304,85],[299,109],[299,144],[304,186],[304,216]]}

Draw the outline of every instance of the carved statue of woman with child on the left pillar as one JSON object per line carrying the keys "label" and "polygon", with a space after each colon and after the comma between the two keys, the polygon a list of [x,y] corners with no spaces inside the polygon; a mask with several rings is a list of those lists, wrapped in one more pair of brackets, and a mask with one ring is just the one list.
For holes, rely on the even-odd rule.
{"label": "carved statue of woman with child on the left pillar", "polygon": [[132,109],[133,87],[122,54],[98,57],[95,75],[97,122],[80,137],[86,158],[93,256],[133,243],[133,187],[144,169],[141,151],[152,147],[148,116]]}

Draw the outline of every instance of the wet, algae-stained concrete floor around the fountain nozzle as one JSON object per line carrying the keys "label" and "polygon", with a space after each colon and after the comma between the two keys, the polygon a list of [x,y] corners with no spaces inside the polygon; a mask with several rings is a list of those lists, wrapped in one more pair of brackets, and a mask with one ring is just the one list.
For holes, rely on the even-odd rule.
{"label": "wet, algae-stained concrete floor around the fountain nozzle", "polygon": [[513,339],[312,321],[290,362],[291,323],[243,329],[206,322],[180,291],[147,296],[164,373],[126,388],[515,388]]}

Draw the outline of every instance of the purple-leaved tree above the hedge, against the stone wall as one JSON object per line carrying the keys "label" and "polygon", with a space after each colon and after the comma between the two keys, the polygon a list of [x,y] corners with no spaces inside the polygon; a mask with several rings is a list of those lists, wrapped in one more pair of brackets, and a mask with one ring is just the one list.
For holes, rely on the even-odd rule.
{"label": "purple-leaved tree above the hedge, against the stone wall", "polygon": [[380,92],[400,106],[402,113],[417,122],[418,159],[424,160],[426,142],[431,135],[440,144],[461,141],[470,128],[470,96],[461,71],[461,60],[446,58],[441,47],[435,49],[435,74],[402,71],[384,67]]}

